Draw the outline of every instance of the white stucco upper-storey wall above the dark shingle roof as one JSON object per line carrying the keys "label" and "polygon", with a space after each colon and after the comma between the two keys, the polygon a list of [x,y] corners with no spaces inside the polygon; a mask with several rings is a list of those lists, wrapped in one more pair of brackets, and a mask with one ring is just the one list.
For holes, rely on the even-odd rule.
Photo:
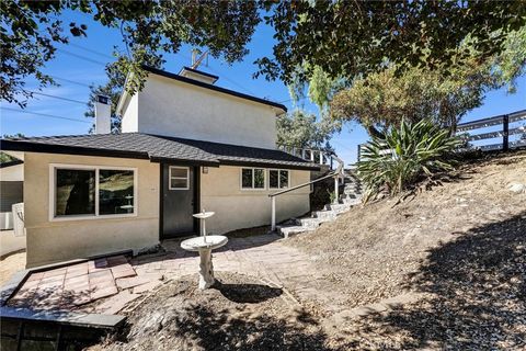
{"label": "white stucco upper-storey wall above the dark shingle roof", "polygon": [[153,73],[123,110],[123,133],[262,148],[276,144],[276,110],[272,106]]}

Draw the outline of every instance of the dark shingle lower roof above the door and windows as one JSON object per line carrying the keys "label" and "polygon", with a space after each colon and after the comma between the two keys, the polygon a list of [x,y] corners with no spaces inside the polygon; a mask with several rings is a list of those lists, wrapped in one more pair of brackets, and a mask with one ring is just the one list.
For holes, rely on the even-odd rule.
{"label": "dark shingle lower roof above the door and windows", "polygon": [[281,150],[142,133],[2,139],[0,148],[31,152],[141,158],[203,166],[245,165],[318,169],[318,166]]}

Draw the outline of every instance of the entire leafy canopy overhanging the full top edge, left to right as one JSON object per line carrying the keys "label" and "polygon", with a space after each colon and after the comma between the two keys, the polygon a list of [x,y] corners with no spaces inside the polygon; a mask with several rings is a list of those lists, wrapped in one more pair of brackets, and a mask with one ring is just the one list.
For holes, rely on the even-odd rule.
{"label": "entire leafy canopy overhanging the full top edge, left to right", "polygon": [[25,79],[41,87],[55,83],[43,70],[56,45],[70,36],[88,35],[85,23],[70,23],[66,10],[92,15],[119,30],[126,50],[117,53],[123,72],[133,72],[126,87],[142,88],[146,53],[158,58],[176,53],[182,43],[206,47],[211,56],[232,63],[247,54],[245,45],[263,18],[275,30],[274,57],[256,60],[268,79],[307,81],[317,67],[333,79],[367,75],[385,68],[448,69],[459,44],[473,38],[479,58],[503,50],[508,34],[524,25],[523,1],[192,1],[192,0],[70,0],[0,2],[2,46],[0,98],[25,105],[32,97]]}

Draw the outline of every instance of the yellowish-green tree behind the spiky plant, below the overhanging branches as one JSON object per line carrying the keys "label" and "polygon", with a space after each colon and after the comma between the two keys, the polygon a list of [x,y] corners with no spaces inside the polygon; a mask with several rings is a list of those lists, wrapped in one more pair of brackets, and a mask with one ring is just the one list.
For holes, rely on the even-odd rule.
{"label": "yellowish-green tree behind the spiky plant, below the overhanging branches", "polygon": [[448,72],[413,67],[400,73],[396,65],[389,65],[380,72],[355,79],[334,95],[331,116],[357,121],[376,137],[399,126],[402,118],[409,123],[431,118],[453,132],[468,111],[482,104],[488,90],[512,87],[524,72],[526,41],[521,38],[525,33],[526,26],[513,32],[504,43],[505,49],[484,60],[472,39],[466,38]]}

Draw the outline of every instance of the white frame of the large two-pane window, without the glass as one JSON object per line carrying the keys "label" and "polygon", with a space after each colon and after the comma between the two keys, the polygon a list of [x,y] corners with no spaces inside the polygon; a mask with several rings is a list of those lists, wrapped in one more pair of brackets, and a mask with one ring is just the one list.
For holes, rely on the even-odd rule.
{"label": "white frame of the large two-pane window, without the glass", "polygon": [[[95,213],[87,215],[56,215],[56,199],[57,199],[57,170],[79,170],[95,171]],[[134,211],[130,213],[116,213],[116,214],[99,214],[99,172],[101,170],[115,170],[115,171],[133,171],[134,172]],[[92,165],[70,165],[70,163],[49,163],[49,222],[65,222],[65,220],[81,220],[81,219],[104,219],[104,218],[125,218],[137,217],[139,201],[138,201],[138,170],[136,167],[119,167],[119,166],[92,166]]]}

